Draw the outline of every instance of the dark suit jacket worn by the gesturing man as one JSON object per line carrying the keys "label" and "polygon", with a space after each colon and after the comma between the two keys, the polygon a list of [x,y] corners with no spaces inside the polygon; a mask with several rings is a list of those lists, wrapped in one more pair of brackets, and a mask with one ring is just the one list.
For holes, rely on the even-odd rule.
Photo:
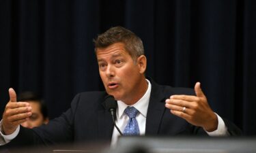
{"label": "dark suit jacket worn by the gesturing man", "polygon": [[[165,99],[171,95],[195,95],[190,88],[160,86],[153,80],[150,103],[147,110],[145,135],[207,135],[201,128],[174,116],[165,107]],[[111,141],[113,122],[106,110],[106,92],[82,92],[74,97],[70,109],[47,125],[35,129],[20,129],[10,146],[26,144],[56,144],[59,142]],[[240,135],[240,130],[225,120],[230,135]]]}

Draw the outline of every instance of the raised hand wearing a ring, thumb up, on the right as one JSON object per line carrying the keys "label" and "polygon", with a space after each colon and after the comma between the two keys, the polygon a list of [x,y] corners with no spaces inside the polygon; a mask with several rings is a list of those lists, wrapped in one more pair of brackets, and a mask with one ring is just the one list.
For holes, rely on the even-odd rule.
{"label": "raised hand wearing a ring, thumb up, on the right", "polygon": [[218,127],[218,118],[208,105],[199,82],[195,84],[195,93],[196,96],[172,95],[165,101],[165,107],[171,109],[172,114],[184,118],[190,124],[201,126],[208,132],[215,131]]}

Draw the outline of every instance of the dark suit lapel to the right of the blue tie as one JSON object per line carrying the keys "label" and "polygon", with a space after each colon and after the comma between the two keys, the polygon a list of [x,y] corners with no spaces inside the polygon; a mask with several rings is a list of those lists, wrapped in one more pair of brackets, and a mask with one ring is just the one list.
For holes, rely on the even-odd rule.
{"label": "dark suit lapel to the right of the blue tie", "polygon": [[160,127],[162,115],[165,112],[165,95],[153,80],[150,80],[152,90],[150,94],[150,103],[147,109],[145,135],[156,135]]}

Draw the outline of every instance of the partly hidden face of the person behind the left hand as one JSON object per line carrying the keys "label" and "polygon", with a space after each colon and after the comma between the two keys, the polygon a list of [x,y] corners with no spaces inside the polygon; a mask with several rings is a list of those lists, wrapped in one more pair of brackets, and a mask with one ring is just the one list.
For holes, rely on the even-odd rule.
{"label": "partly hidden face of the person behind the left hand", "polygon": [[38,102],[34,101],[27,101],[32,107],[32,115],[29,117],[29,120],[26,122],[23,122],[21,125],[23,127],[32,129],[33,127],[40,126],[46,122],[48,122],[48,119],[45,120],[44,116],[42,115],[42,112],[40,110],[40,104]]}

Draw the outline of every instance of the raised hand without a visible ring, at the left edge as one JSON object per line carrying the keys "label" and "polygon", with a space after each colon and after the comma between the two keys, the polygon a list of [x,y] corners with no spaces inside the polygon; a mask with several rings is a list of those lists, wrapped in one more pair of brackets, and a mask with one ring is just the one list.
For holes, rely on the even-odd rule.
{"label": "raised hand without a visible ring, at the left edge", "polygon": [[31,116],[31,106],[26,102],[18,102],[16,92],[13,88],[9,89],[10,101],[5,106],[3,112],[2,132],[5,135],[14,133],[20,123],[25,122]]}

